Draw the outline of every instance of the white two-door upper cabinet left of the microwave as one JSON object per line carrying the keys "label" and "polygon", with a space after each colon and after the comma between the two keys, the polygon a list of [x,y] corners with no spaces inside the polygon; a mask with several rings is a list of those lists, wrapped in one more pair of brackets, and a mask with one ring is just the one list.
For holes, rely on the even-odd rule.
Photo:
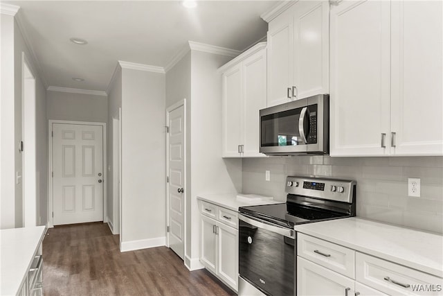
{"label": "white two-door upper cabinet left of the microwave", "polygon": [[266,42],[220,68],[222,156],[264,157],[259,153],[259,110],[266,107]]}

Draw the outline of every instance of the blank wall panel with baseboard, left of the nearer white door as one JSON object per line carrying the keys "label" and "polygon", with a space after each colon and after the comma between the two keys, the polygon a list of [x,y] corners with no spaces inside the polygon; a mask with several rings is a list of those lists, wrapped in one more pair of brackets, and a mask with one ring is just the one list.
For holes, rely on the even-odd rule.
{"label": "blank wall panel with baseboard, left of the nearer white door", "polygon": [[165,244],[165,75],[122,69],[122,250]]}

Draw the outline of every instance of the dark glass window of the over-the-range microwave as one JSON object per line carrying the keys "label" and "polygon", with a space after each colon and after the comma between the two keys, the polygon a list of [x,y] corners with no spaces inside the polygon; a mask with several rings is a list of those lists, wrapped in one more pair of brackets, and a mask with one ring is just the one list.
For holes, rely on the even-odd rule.
{"label": "dark glass window of the over-the-range microwave", "polygon": [[262,116],[262,147],[302,144],[298,119],[302,108]]}

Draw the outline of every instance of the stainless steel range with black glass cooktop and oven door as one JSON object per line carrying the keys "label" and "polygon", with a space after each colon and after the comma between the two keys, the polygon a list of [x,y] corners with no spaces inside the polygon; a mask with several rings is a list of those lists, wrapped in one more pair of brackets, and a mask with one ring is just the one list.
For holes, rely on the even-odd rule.
{"label": "stainless steel range with black glass cooktop and oven door", "polygon": [[287,177],[287,202],[239,208],[239,295],[296,295],[294,225],[355,216],[356,182]]}

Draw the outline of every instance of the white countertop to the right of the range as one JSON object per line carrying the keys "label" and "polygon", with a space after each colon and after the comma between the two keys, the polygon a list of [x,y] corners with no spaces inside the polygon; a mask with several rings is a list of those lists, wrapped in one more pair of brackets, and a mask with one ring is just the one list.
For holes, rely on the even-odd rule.
{"label": "white countertop to the right of the range", "polygon": [[297,232],[443,277],[443,236],[362,218],[296,225]]}

